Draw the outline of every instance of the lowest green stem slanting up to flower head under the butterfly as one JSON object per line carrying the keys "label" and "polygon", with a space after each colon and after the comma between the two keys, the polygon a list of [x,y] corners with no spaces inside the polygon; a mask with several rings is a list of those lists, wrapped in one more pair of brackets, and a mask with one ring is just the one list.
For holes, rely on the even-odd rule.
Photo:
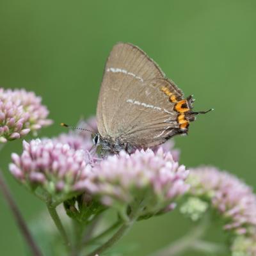
{"label": "lowest green stem slanting up to flower head under the butterfly", "polygon": [[131,226],[132,226],[132,222],[124,223],[122,225],[122,227],[120,227],[117,230],[117,232],[112,237],[110,237],[106,243],[102,244],[102,246],[100,246],[99,248],[97,248],[96,250],[94,250],[93,252],[89,253],[86,256],[95,256],[99,253],[106,251],[108,248],[113,246],[117,241],[119,241],[120,238],[123,237],[124,234],[126,234],[126,232],[129,230],[129,228],[131,228]]}

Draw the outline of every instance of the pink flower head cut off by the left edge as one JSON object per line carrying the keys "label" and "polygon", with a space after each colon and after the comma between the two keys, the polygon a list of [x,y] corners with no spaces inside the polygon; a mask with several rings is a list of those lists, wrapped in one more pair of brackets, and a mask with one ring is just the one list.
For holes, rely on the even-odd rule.
{"label": "pink flower head cut off by the left edge", "polygon": [[35,93],[0,88],[0,142],[19,139],[50,125],[48,115],[49,111]]}

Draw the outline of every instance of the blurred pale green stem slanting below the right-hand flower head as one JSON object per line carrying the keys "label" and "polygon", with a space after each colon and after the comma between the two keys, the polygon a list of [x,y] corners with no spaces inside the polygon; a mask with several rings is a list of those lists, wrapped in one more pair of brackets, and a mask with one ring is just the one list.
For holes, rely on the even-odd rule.
{"label": "blurred pale green stem slanting below the right-hand flower head", "polygon": [[201,221],[201,223],[186,234],[186,236],[174,241],[163,250],[152,253],[151,256],[177,256],[186,252],[189,248],[194,247],[196,241],[204,235],[208,227],[208,222],[208,219]]}

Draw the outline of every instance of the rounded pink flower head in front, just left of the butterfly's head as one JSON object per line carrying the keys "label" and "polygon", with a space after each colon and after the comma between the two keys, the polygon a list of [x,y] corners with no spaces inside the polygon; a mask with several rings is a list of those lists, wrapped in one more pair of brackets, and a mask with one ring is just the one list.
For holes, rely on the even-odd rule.
{"label": "rounded pink flower head in front, just left of the butterfly's head", "polygon": [[77,182],[86,179],[90,166],[86,153],[52,140],[23,141],[22,155],[12,154],[10,172],[30,188],[41,188],[54,198],[77,192]]}

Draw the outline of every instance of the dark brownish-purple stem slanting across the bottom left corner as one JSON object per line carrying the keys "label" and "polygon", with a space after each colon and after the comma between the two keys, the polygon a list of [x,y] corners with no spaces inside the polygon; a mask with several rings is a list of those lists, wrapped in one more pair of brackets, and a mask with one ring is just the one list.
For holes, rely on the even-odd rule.
{"label": "dark brownish-purple stem slanting across the bottom left corner", "polygon": [[2,170],[0,169],[0,189],[3,192],[3,195],[7,201],[7,203],[10,206],[10,209],[13,213],[13,216],[17,222],[17,225],[20,229],[20,232],[25,238],[26,243],[28,244],[29,249],[31,250],[32,255],[34,256],[42,256],[42,253],[40,252],[37,244],[35,243],[35,240],[31,236],[31,233],[26,225],[26,222],[24,221],[19,208],[15,204],[15,201],[13,200],[12,194],[10,192],[10,189],[8,188],[6,182],[4,181],[4,177],[2,174]]}

